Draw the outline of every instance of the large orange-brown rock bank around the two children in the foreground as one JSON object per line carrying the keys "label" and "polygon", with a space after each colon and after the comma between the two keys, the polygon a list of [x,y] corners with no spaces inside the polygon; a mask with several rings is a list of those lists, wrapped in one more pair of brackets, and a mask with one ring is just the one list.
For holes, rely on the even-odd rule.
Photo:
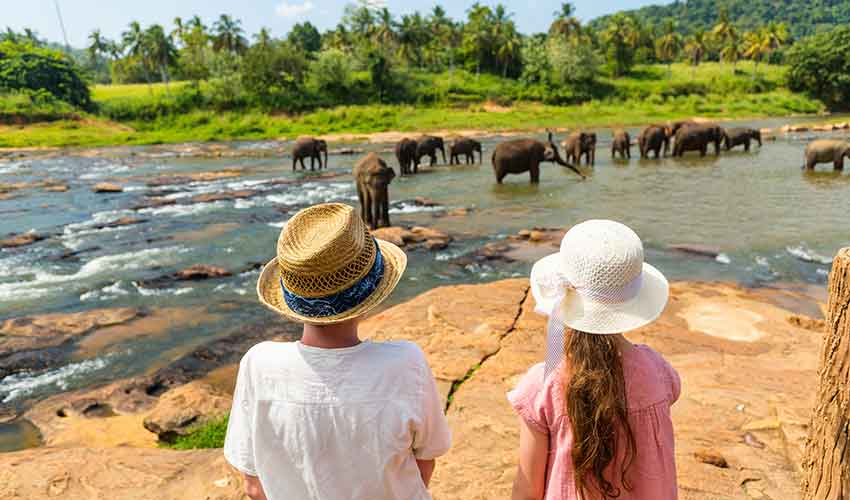
{"label": "large orange-brown rock bank around the two children in the foreground", "polygon": [[[813,302],[797,292],[679,282],[662,318],[630,335],[682,375],[673,412],[680,498],[799,496],[823,325],[795,312]],[[220,450],[156,448],[157,437],[225,413],[239,353],[264,338],[291,339],[291,330],[282,323],[247,341],[221,340],[226,363],[198,368],[201,349],[184,362],[195,371],[175,372],[183,376],[171,383],[119,381],[36,404],[26,417],[45,446],[0,455],[0,498],[242,498]],[[518,436],[504,394],[543,358],[544,318],[533,312],[528,282],[435,289],[370,318],[362,332],[417,342],[431,362],[454,430],[434,497],[507,498]]]}

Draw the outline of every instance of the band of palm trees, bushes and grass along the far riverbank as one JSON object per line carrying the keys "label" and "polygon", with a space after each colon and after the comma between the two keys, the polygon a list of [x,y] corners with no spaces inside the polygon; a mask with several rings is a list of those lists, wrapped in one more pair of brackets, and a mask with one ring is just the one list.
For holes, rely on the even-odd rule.
{"label": "band of palm trees, bushes and grass along the far riverbank", "polygon": [[[636,125],[847,104],[805,78],[789,90],[796,47],[812,42],[778,22],[739,26],[723,8],[703,30],[622,13],[582,25],[565,3],[530,36],[502,5],[474,4],[463,20],[439,6],[396,18],[362,0],[325,33],[305,22],[249,40],[227,15],[173,24],[132,22],[120,40],[96,30],[76,57],[32,32],[0,34],[0,146]],[[30,52],[52,64],[31,73],[49,76],[58,61],[91,85],[69,98],[55,78],[13,77]]]}

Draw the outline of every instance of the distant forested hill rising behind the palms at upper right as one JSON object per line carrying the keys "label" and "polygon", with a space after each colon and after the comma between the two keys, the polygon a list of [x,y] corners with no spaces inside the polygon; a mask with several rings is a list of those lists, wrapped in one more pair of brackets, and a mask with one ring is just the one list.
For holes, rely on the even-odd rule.
{"label": "distant forested hill rising behind the palms at upper right", "polygon": [[[775,21],[786,23],[794,38],[829,31],[836,25],[850,22],[848,0],[677,0],[668,5],[650,5],[624,12],[652,24],[672,18],[680,31],[690,33],[713,28],[721,7],[727,8],[729,18],[740,29],[750,30]],[[594,19],[590,25],[604,26],[608,17]]]}

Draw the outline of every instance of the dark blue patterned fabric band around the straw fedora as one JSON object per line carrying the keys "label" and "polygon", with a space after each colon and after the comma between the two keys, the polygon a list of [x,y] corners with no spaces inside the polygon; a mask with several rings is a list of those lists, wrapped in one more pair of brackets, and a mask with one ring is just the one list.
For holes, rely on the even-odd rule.
{"label": "dark blue patterned fabric band around the straw fedora", "polygon": [[373,241],[375,242],[376,253],[375,263],[372,264],[372,269],[357,283],[341,292],[326,297],[309,299],[287,290],[283,285],[283,278],[281,278],[280,288],[283,290],[283,299],[286,301],[286,305],[301,316],[308,318],[327,318],[350,311],[362,304],[378,289],[378,285],[381,284],[381,280],[384,278],[384,256],[381,255],[378,242],[374,238]]}

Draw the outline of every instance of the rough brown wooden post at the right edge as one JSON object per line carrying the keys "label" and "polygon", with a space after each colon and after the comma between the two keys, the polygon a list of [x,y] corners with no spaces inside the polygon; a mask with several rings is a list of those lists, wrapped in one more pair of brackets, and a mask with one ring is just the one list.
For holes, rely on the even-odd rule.
{"label": "rough brown wooden post at the right edge", "polygon": [[803,500],[850,499],[850,248],[829,275],[827,331],[803,458]]}

